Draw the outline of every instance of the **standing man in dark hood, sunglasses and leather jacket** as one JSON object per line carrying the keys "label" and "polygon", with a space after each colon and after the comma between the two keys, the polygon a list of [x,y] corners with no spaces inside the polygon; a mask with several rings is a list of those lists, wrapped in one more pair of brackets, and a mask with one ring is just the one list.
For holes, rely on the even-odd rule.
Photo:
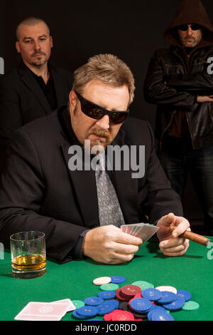
{"label": "standing man in dark hood, sunglasses and leather jacket", "polygon": [[213,233],[213,26],[200,0],[185,0],[164,32],[170,48],[155,51],[144,96],[157,104],[155,137],[160,163],[182,197],[190,172]]}

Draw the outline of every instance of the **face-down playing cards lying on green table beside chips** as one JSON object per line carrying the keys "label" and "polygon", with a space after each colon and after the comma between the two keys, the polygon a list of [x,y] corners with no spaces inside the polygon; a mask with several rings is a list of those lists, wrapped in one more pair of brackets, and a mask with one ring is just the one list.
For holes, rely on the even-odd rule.
{"label": "face-down playing cards lying on green table beside chips", "polygon": [[70,299],[53,302],[29,302],[14,318],[24,321],[60,321],[67,311],[76,309]]}

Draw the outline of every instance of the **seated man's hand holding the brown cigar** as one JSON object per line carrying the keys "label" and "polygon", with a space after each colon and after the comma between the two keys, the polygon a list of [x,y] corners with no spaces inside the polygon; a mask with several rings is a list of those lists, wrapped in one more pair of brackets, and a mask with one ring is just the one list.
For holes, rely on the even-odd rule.
{"label": "seated man's hand holding the brown cigar", "polygon": [[[170,225],[175,226],[171,231]],[[166,256],[182,256],[187,251],[190,242],[188,239],[180,237],[186,230],[190,230],[190,222],[184,217],[177,217],[173,213],[161,217],[157,224],[160,229],[157,232],[160,240],[160,250]]]}

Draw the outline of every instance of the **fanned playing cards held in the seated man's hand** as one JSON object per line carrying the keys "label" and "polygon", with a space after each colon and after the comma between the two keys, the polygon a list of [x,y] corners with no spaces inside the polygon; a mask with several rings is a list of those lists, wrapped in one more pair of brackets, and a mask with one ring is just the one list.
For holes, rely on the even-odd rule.
{"label": "fanned playing cards held in the seated man's hand", "polygon": [[155,232],[158,232],[159,227],[149,225],[148,223],[133,223],[131,225],[121,225],[121,231],[126,234],[131,234],[140,237],[143,243],[148,241]]}

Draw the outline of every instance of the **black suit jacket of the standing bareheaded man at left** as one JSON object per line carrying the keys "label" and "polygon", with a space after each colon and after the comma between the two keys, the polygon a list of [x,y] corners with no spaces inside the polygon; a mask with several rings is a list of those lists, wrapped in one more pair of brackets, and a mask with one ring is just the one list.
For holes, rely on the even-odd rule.
{"label": "black suit jacket of the standing bareheaded man at left", "polygon": [[[67,104],[72,89],[70,71],[50,66],[58,108]],[[52,112],[33,73],[24,63],[0,77],[0,175],[6,163],[6,149],[16,129]]]}

